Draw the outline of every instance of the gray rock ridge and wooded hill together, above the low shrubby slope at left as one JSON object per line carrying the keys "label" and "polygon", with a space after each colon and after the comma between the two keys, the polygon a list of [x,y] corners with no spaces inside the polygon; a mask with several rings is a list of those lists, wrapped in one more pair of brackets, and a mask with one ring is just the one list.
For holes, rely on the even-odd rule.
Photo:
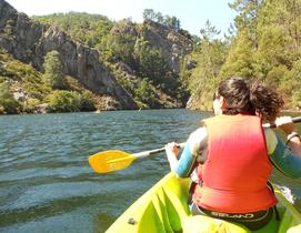
{"label": "gray rock ridge and wooded hill together, above the low shrubby slope at left", "polygon": [[32,65],[41,79],[46,55],[58,51],[64,75],[91,91],[100,109],[184,107],[188,99],[179,74],[192,42],[160,23],[74,12],[30,19],[0,0],[0,36],[2,53]]}

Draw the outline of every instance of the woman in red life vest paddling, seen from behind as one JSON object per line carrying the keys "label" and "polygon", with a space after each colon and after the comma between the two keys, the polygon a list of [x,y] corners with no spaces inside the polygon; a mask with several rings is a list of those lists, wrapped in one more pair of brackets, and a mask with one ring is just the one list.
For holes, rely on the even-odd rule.
{"label": "woman in red life vest paddling, seen from behind", "polygon": [[[190,176],[190,210],[243,224],[265,225],[277,213],[269,176],[272,166],[287,176],[301,178],[301,140],[290,116],[277,118],[281,97],[263,83],[242,78],[220,82],[213,97],[215,116],[192,132],[178,160],[177,143],[168,143],[170,168]],[[262,122],[274,122],[287,142]]]}

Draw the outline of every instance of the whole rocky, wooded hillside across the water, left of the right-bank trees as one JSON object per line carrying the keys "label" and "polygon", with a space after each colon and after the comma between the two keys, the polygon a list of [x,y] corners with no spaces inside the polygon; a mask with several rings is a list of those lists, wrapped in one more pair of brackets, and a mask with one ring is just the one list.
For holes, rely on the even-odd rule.
{"label": "whole rocky, wooded hillside across the water, left of the right-bank trees", "polygon": [[77,12],[29,19],[7,2],[0,9],[1,113],[184,107],[180,70],[192,47],[175,17],[158,21],[148,9],[143,23]]}

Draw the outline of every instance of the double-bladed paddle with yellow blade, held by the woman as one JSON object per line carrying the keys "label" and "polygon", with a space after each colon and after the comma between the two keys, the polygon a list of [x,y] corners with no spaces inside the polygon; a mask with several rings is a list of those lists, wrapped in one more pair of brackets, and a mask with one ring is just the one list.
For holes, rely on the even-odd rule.
{"label": "double-bladed paddle with yellow blade, held by the woman", "polygon": [[[292,122],[294,123],[301,122],[301,116],[292,118]],[[263,128],[275,128],[275,126],[277,125],[274,123],[263,124]],[[180,143],[179,148],[183,148],[184,144],[185,144],[184,142]],[[133,154],[118,150],[103,151],[91,155],[89,158],[89,164],[97,173],[114,172],[118,170],[127,169],[136,159],[146,158],[151,154],[157,154],[159,152],[163,152],[164,150],[165,150],[164,148],[160,148]]]}

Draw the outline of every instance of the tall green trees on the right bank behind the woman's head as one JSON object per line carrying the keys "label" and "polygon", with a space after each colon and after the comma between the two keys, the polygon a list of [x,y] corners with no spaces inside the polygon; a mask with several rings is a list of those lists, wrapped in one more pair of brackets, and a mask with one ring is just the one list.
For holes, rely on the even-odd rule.
{"label": "tall green trees on the right bank behind the woman's head", "polygon": [[202,30],[193,53],[197,68],[188,78],[191,108],[211,109],[217,83],[240,75],[269,83],[287,109],[300,110],[301,0],[235,0],[230,7],[238,12],[233,34],[217,40],[210,26]]}

